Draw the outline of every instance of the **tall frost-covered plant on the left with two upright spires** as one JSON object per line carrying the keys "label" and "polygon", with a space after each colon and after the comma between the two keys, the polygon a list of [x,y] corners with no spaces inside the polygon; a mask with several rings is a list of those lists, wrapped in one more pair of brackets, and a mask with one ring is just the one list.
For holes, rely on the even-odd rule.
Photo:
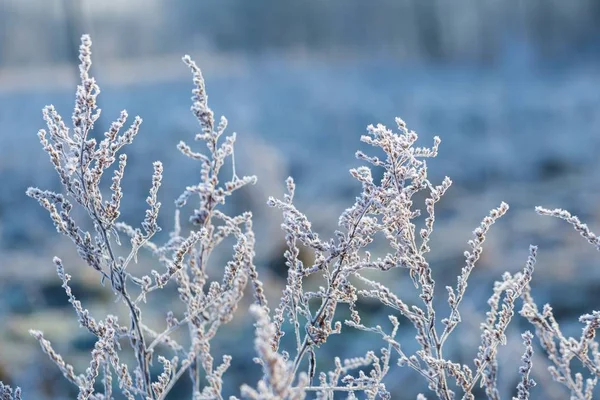
{"label": "tall frost-covered plant on the left with two upright spires", "polygon": [[[50,212],[57,231],[75,243],[81,258],[100,273],[102,280],[110,282],[117,298],[128,308],[130,318],[126,325],[121,324],[113,315],[108,315],[101,321],[93,318],[72,294],[69,287],[70,276],[65,272],[63,262],[54,258],[58,276],[75,308],[80,325],[98,338],[89,368],[85,374],[76,374],[73,367],[54,352],[41,332],[31,331],[31,334],[38,339],[42,349],[59,366],[63,375],[79,388],[80,399],[110,399],[113,375],[116,375],[119,390],[129,399],[164,399],[186,372],[192,381],[194,398],[218,398],[222,391],[222,376],[229,366],[230,357],[226,356],[220,363],[215,363],[210,354],[211,339],[218,333],[221,325],[232,319],[248,282],[252,282],[254,286],[257,304],[266,306],[262,284],[253,263],[252,215],[247,212],[231,217],[220,211],[219,206],[235,190],[254,183],[256,178],[240,178],[234,173],[231,180],[220,182],[221,167],[233,154],[235,134],[219,140],[225,132],[227,120],[221,118],[218,124],[215,123],[213,113],[207,105],[200,70],[186,56],[184,62],[192,70],[196,84],[192,111],[202,128],[202,133],[196,135],[196,140],[205,142],[208,155],[194,152],[183,142],[179,144],[178,148],[184,155],[200,161],[201,182],[187,187],[176,203],[178,207],[182,207],[188,201],[197,199],[197,208],[190,216],[190,221],[197,229],[184,234],[177,213],[175,228],[169,240],[163,245],[152,242],[152,237],[160,229],[157,218],[161,204],[157,201],[157,192],[163,167],[158,161],[153,164],[152,186],[146,199],[148,209],[142,228],[133,228],[120,222],[119,203],[123,196],[121,180],[127,156],[118,156],[118,166],[110,186],[110,199],[103,198],[101,179],[103,173],[116,162],[117,152],[132,142],[142,120],[135,118],[133,124],[119,134],[127,118],[127,113],[123,111],[99,144],[90,137],[94,122],[100,115],[100,110],[96,108],[99,88],[89,75],[90,47],[90,38],[84,36],[79,56],[81,85],[76,94],[72,131],[67,128],[54,107],[48,106],[44,109],[48,131],[42,130],[39,133],[40,141],[50,155],[65,193],[29,188],[27,194]],[[85,231],[75,222],[70,214],[73,204],[69,198],[87,211],[93,222],[93,232]],[[119,232],[125,233],[131,241],[131,251],[126,257],[115,254],[114,247],[120,245]],[[209,281],[206,266],[210,255],[215,247],[230,236],[236,240],[232,260],[224,268],[222,281]],[[132,261],[137,261],[137,253],[142,248],[148,249],[164,265],[163,272],[152,270],[150,275],[136,277],[127,270]],[[169,312],[164,331],[154,332],[142,320],[141,305],[146,301],[146,296],[164,287],[170,280],[178,285],[179,299],[186,311],[181,317]],[[172,337],[176,330],[183,327],[187,328],[190,335],[189,347],[182,346]],[[133,376],[128,365],[120,358],[122,338],[129,339],[135,354]],[[171,356],[156,354],[157,346],[161,344],[172,350]],[[154,360],[163,365],[163,372],[158,377],[151,374],[150,365]],[[103,376],[103,394],[97,393],[94,388],[99,375]]]}

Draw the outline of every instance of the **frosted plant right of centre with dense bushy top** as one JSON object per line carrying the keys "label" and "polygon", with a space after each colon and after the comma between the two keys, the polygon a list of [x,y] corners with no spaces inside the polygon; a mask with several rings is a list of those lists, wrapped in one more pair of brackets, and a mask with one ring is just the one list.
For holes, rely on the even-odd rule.
{"label": "frosted plant right of centre with dense bushy top", "polygon": [[[472,399],[473,388],[481,379],[488,396],[496,398],[497,348],[505,343],[504,332],[514,314],[515,301],[531,280],[536,248],[530,249],[530,258],[522,273],[514,276],[505,274],[503,281],[495,285],[489,301],[491,311],[482,325],[481,345],[474,368],[446,359],[444,345],[461,320],[459,306],[469,275],[481,255],[485,235],[491,225],[506,213],[508,205],[502,203],[492,210],[481,226],[475,229],[475,237],[469,241],[471,251],[465,252],[466,263],[458,276],[456,288],[446,288],[450,315],[439,320],[439,325],[433,303],[435,281],[426,254],[430,251],[428,243],[435,221],[435,204],[452,182],[446,177],[440,185],[433,186],[427,178],[424,159],[437,155],[440,139],[435,138],[432,148],[413,147],[417,140],[416,133],[409,131],[402,120],[397,119],[396,122],[399,134],[378,125],[370,126],[369,135],[361,138],[363,142],[381,148],[385,158],[368,156],[360,151],[356,154],[357,158],[383,168],[384,174],[380,182],[375,182],[371,169],[366,166],[350,170],[352,176],[362,184],[363,190],[354,205],[341,215],[341,230],[336,231],[335,239],[321,240],[312,231],[306,217],[294,207],[294,183],[291,179],[288,180],[288,194],[284,200],[269,200],[270,205],[283,210],[283,229],[289,247],[286,252],[288,285],[280,306],[275,310],[275,324],[279,332],[286,319],[294,325],[298,347],[293,362],[294,371],[306,356],[313,365],[314,348],[325,343],[330,335],[340,333],[342,323],[335,320],[336,308],[340,304],[347,304],[351,312],[351,318],[344,321],[346,325],[376,333],[387,343],[387,347],[381,349],[381,355],[370,351],[365,358],[350,363],[353,368],[361,370],[358,377],[344,376],[348,364],[345,364],[344,370],[341,362],[336,360],[338,368],[335,371],[321,373],[319,384],[306,388],[317,391],[322,398],[328,398],[336,391],[365,392],[369,398],[389,398],[391,395],[386,390],[384,378],[390,370],[390,360],[394,354],[398,358],[398,365],[406,365],[420,373],[439,398],[455,397],[450,382],[453,380],[454,386],[463,391],[464,398]],[[429,198],[425,201],[427,218],[424,227],[417,230],[413,221],[419,217],[420,210],[413,208],[412,198],[420,191],[428,191]],[[393,249],[385,257],[373,258],[365,250],[377,234],[383,234]],[[298,260],[298,244],[315,252],[314,265],[304,266]],[[420,290],[422,306],[409,306],[384,284],[364,276],[368,270],[386,272],[395,268],[407,270],[415,288]],[[325,285],[317,292],[305,292],[303,279],[315,273],[324,275]],[[364,288],[359,288],[357,284]],[[393,310],[389,317],[392,324],[389,331],[381,326],[365,326],[361,322],[357,304],[361,297],[380,301]],[[311,305],[313,299],[320,302],[317,307]],[[416,339],[421,346],[416,354],[406,354],[395,339],[399,326],[397,316],[406,318],[414,325]],[[300,329],[301,319],[306,320],[304,333]],[[274,340],[274,349],[278,348],[279,338],[277,336]],[[370,368],[368,373],[362,372],[365,367]],[[314,368],[311,367],[311,381],[313,373]]]}

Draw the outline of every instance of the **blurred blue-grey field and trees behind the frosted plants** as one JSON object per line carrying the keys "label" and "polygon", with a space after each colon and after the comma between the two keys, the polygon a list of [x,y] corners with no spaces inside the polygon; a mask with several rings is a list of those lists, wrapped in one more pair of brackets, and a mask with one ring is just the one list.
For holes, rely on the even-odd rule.
{"label": "blurred blue-grey field and trees behind the frosted plants", "polygon": [[[44,105],[54,104],[70,119],[83,33],[92,36],[93,74],[102,89],[96,134],[121,109],[144,119],[126,149],[123,219],[134,226],[143,219],[152,162],[161,160],[165,235],[173,200],[199,176],[198,165],[175,148],[180,140],[192,142],[199,129],[189,112],[192,81],[181,56],[190,54],[202,68],[211,108],[238,133],[238,173],[259,178],[228,210],[255,215],[257,264],[274,304],[287,272],[281,216],[267,208],[267,197],[282,196],[292,175],[298,208],[329,237],[360,190],[347,172],[358,165],[355,150],[370,151],[360,135],[369,124],[394,127],[399,116],[419,133],[420,146],[441,137],[430,178],[454,181],[439,204],[431,241],[438,288],[455,283],[467,240],[488,211],[501,201],[511,206],[493,226],[472,274],[465,321],[448,354],[454,361],[472,365],[493,281],[522,268],[530,243],[540,246],[534,296],[554,307],[565,333],[579,335],[577,317],[599,308],[600,255],[566,223],[534,212],[536,205],[566,208],[600,229],[599,1],[0,0],[0,380],[21,385],[25,398],[74,396],[28,329],[44,330],[80,373],[94,344],[77,326],[53,255],[65,260],[75,294],[93,315],[123,312],[56,234],[45,210],[24,194],[28,186],[60,190],[36,133],[44,127]],[[216,258],[213,276],[220,276],[228,252]],[[302,257],[311,260],[311,254]],[[140,271],[156,268],[143,261]],[[402,271],[385,279],[401,297],[418,301]],[[159,296],[173,299],[174,290]],[[446,293],[437,296],[443,314]],[[169,309],[164,304],[144,310],[156,329]],[[389,314],[377,304],[364,306],[373,324]],[[215,358],[234,356],[228,394],[259,376],[249,342],[240,340],[252,335],[246,310],[247,303],[213,343]],[[526,329],[515,317],[501,349],[503,396],[515,393],[519,333]],[[408,323],[400,335],[414,349]],[[378,337],[348,331],[323,346],[319,365],[382,345]],[[536,347],[534,398],[566,398],[546,366]],[[388,388],[393,398],[415,398],[427,394],[420,379],[396,368]],[[185,382],[175,396],[183,393]]]}

